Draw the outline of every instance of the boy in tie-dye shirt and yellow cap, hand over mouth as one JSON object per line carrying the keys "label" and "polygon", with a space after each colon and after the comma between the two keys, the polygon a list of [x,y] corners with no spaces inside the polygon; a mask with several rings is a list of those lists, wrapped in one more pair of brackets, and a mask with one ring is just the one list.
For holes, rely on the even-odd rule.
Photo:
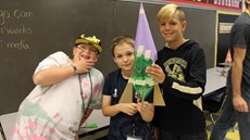
{"label": "boy in tie-dye shirt and yellow cap, hand over mouth", "polygon": [[55,52],[42,60],[36,87],[21,103],[12,140],[77,140],[77,130],[92,110],[101,109],[103,75],[93,66],[102,51],[100,39],[82,35],[73,59]]}

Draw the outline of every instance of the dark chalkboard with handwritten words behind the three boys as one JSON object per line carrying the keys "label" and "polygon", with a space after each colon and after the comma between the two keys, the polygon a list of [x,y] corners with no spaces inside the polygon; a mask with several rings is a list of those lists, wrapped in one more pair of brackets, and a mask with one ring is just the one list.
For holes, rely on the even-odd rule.
{"label": "dark chalkboard with handwritten words behind the three boys", "polygon": [[[155,15],[161,4],[145,3],[158,50],[164,46]],[[165,4],[165,3],[164,3]],[[215,11],[184,8],[186,38],[205,50],[207,66],[214,62]],[[116,66],[110,43],[117,35],[135,37],[138,2],[115,0],[1,0],[0,1],[0,115],[16,112],[34,88],[33,73],[38,63],[55,51],[70,56],[78,35],[96,35],[103,52],[97,68],[107,75]]]}

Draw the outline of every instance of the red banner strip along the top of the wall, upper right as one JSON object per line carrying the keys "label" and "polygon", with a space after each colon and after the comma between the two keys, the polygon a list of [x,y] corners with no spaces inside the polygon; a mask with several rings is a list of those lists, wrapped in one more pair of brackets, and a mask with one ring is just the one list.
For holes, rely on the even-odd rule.
{"label": "red banner strip along the top of the wall, upper right", "polygon": [[211,8],[216,10],[241,11],[242,0],[164,0],[170,2],[179,2],[197,7]]}

